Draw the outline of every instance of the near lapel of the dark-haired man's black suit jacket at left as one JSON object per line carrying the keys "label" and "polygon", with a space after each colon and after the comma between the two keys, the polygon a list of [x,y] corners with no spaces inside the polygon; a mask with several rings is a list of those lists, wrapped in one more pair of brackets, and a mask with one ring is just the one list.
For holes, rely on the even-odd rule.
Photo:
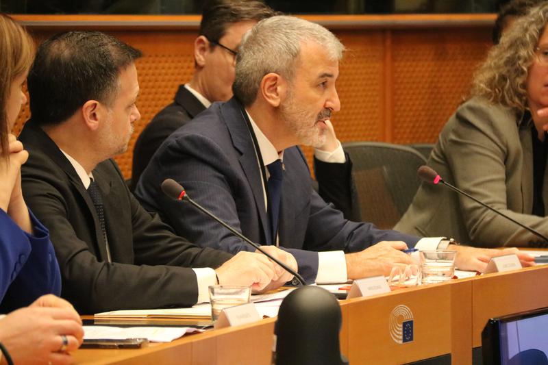
{"label": "near lapel of the dark-haired man's black suit jacket at left", "polygon": [[[27,129],[27,133],[25,133],[25,129]],[[40,126],[32,123],[32,120],[25,123],[23,132],[21,133],[25,133],[25,138],[27,138],[29,144],[34,144],[37,147],[39,146],[39,148],[62,169],[66,176],[69,177],[70,184],[73,186],[73,188],[75,188],[75,190],[77,190],[79,197],[86,204],[85,207],[80,206],[79,208],[82,210],[87,209],[88,213],[93,218],[93,225],[95,227],[95,239],[96,242],[98,242],[97,249],[99,249],[101,260],[106,262],[108,257],[106,251],[106,242],[103,238],[103,231],[101,231],[101,223],[99,223],[99,218],[97,217],[95,205],[93,205],[93,201],[88,194],[88,190],[84,188],[84,184],[82,184],[82,180],[76,173],[73,165],[65,157],[57,144],[55,144],[55,142],[53,142],[53,140],[49,138],[49,136],[45,133],[45,131],[42,130],[42,128],[40,128]],[[95,176],[95,171],[93,172],[93,174]],[[99,184],[99,181],[97,181],[97,184]],[[103,191],[105,193],[110,192],[110,187],[105,187],[105,184],[99,184],[99,188],[101,189],[101,193],[103,193]],[[77,201],[78,199],[75,200]],[[105,196],[103,196],[103,201],[104,200]]]}

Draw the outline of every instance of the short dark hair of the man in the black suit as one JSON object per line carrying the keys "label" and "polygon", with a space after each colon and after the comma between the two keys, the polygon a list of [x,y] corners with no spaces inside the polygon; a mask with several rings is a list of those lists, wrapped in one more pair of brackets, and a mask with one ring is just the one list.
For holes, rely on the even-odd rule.
{"label": "short dark hair of the man in the black suit", "polygon": [[141,55],[101,32],[66,32],[49,38],[38,47],[27,79],[33,121],[62,123],[88,100],[110,105],[119,92],[121,69]]}

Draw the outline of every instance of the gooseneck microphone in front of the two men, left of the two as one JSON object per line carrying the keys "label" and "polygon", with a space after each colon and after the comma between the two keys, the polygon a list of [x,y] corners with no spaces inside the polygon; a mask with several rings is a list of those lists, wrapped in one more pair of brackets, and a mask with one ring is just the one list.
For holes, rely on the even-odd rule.
{"label": "gooseneck microphone in front of the two men, left of the two", "polygon": [[273,257],[272,255],[270,255],[266,251],[263,251],[259,244],[256,244],[255,242],[251,241],[246,236],[240,234],[240,232],[236,231],[236,229],[230,227],[229,225],[227,225],[227,223],[221,221],[221,218],[217,217],[215,214],[213,214],[212,212],[207,210],[205,207],[202,207],[201,205],[199,205],[198,203],[196,203],[195,201],[190,199],[190,197],[188,197],[188,195],[186,194],[186,191],[184,190],[184,188],[177,181],[175,181],[173,179],[165,179],[164,182],[162,182],[162,191],[164,192],[164,194],[166,194],[168,197],[170,197],[172,199],[179,200],[179,201],[188,201],[188,203],[194,205],[199,210],[201,210],[201,212],[207,214],[208,216],[213,218],[215,221],[217,221],[219,224],[221,224],[223,227],[225,227],[226,229],[231,231],[232,234],[234,234],[238,238],[241,238],[245,242],[251,244],[251,246],[255,247],[258,251],[260,251],[264,255],[266,255],[266,257],[269,257],[270,260],[272,260],[273,262],[275,262],[279,266],[282,266],[282,268],[284,268],[284,270],[286,270],[291,275],[295,276],[295,278],[299,281],[299,283],[302,286],[306,286],[306,283],[304,282],[303,277],[301,277],[301,275],[299,275],[299,273],[296,273],[294,270],[292,270],[286,264],[284,264],[283,262],[280,262],[279,260],[277,260],[277,258]]}

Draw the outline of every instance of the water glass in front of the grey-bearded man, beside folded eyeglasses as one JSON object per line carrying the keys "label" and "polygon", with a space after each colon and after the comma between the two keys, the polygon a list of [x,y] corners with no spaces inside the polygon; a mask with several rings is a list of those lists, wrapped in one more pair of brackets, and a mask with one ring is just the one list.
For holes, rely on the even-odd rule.
{"label": "water glass in front of the grey-bearded man, beside folded eyeglasses", "polygon": [[434,284],[447,281],[455,275],[457,251],[420,251],[421,284]]}

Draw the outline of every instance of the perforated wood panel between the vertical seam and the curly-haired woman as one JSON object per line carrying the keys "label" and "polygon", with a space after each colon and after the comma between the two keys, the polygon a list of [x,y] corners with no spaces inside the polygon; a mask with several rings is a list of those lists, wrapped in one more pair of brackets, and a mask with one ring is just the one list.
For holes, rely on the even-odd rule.
{"label": "perforated wood panel between the vertical seam and the curly-haired woman", "polygon": [[393,31],[393,142],[436,142],[485,58],[487,30]]}

